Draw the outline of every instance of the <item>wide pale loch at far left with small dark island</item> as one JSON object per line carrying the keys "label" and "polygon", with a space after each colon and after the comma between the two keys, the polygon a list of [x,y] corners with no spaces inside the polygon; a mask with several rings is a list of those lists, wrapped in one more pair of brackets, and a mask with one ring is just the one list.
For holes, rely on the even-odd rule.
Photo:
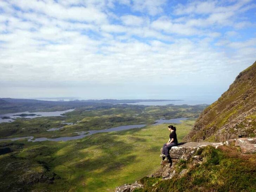
{"label": "wide pale loch at far left with small dark island", "polygon": [[[24,111],[24,112],[19,112],[19,113],[7,113],[7,114],[0,114],[0,123],[9,123],[9,122],[13,122],[15,121],[15,119],[17,118],[27,118],[27,119],[33,119],[33,118],[37,118],[37,117],[51,117],[51,116],[65,116],[65,115],[61,115],[70,111],[73,111],[75,109],[68,109],[65,111],[51,111],[51,112],[28,112],[28,111]],[[36,114],[34,116],[25,116],[25,117],[21,117],[21,116],[17,116],[20,114]],[[11,119],[2,119],[1,117],[10,117]]]}

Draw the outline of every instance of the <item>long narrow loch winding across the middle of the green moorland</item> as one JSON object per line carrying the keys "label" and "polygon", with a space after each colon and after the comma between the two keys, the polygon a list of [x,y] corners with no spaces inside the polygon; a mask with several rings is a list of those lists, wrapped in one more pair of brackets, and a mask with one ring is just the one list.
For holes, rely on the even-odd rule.
{"label": "long narrow loch winding across the middle of the green moorland", "polygon": [[[177,119],[169,119],[169,120],[163,120],[159,119],[156,120],[155,124],[153,125],[158,125],[162,123],[181,123],[183,120],[187,120],[188,118],[177,118]],[[11,140],[11,141],[16,141],[19,139],[28,139],[27,141],[32,141],[32,142],[38,142],[38,141],[70,141],[70,140],[76,140],[76,139],[82,139],[88,135],[92,135],[95,133],[103,133],[103,132],[114,132],[114,131],[121,131],[121,130],[128,130],[128,129],[133,129],[133,128],[141,128],[145,127],[147,124],[136,124],[136,125],[124,125],[124,126],[118,126],[118,127],[112,127],[109,129],[102,129],[102,130],[89,130],[89,131],[83,131],[83,132],[75,132],[78,135],[77,136],[66,136],[66,137],[57,137],[53,139],[49,139],[46,137],[39,137],[34,139],[33,136],[26,136],[26,137],[15,137],[15,138],[9,138],[9,139],[0,139],[0,141],[6,141],[6,140]]]}

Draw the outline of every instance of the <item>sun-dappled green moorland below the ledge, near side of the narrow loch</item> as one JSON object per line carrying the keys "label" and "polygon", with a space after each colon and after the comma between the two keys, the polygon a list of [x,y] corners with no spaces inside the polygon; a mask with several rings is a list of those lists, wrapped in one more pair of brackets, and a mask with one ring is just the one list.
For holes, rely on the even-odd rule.
{"label": "sun-dappled green moorland below the ledge, near side of the narrow loch", "polygon": [[[178,140],[193,120],[177,124]],[[114,191],[159,167],[167,124],[99,133],[67,142],[0,142],[1,191]]]}

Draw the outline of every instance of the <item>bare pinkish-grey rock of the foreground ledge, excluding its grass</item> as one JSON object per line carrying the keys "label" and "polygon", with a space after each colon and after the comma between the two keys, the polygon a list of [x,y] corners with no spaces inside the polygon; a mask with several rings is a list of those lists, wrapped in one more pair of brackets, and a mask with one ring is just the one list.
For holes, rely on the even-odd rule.
{"label": "bare pinkish-grey rock of the foreground ledge, excluding its grass", "polygon": [[[163,180],[172,179],[173,177],[182,177],[188,172],[188,168],[182,168],[182,165],[179,165],[181,161],[189,161],[192,166],[202,164],[204,162],[204,158],[202,158],[200,154],[203,147],[212,146],[218,148],[224,145],[240,147],[242,153],[256,153],[256,138],[230,139],[225,142],[179,143],[178,146],[172,147],[169,151],[172,161],[168,162],[162,160],[161,166],[158,170],[153,174],[148,175],[148,177],[161,177]],[[162,152],[162,148],[160,152]],[[180,171],[177,171],[177,167]],[[136,181],[134,184],[125,184],[123,186],[116,187],[115,192],[133,192],[134,189],[138,187],[143,188],[143,185],[138,184]]]}

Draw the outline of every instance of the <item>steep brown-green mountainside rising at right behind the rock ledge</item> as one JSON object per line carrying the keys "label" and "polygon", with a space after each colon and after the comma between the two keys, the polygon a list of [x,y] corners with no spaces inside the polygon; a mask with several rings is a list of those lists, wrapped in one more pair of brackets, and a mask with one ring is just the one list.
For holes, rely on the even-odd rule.
{"label": "steep brown-green mountainside rising at right behind the rock ledge", "polygon": [[256,62],[203,113],[184,141],[225,141],[256,135]]}

